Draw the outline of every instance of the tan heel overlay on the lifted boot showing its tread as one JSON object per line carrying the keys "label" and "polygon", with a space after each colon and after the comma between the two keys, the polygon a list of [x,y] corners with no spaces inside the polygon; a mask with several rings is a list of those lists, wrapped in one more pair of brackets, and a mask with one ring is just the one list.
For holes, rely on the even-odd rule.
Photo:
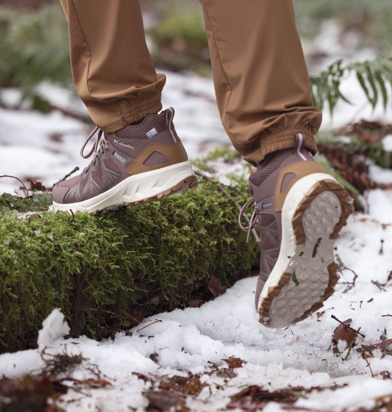
{"label": "tan heel overlay on the lifted boot showing its tread", "polygon": [[[281,192],[280,189],[282,187],[282,181],[287,173],[294,173],[296,177],[293,178],[286,189]],[[327,173],[327,171],[316,162],[299,162],[293,165],[288,165],[280,171],[275,189],[275,212],[282,211],[284,199],[286,198],[288,191],[292,188],[295,182],[312,173]]]}

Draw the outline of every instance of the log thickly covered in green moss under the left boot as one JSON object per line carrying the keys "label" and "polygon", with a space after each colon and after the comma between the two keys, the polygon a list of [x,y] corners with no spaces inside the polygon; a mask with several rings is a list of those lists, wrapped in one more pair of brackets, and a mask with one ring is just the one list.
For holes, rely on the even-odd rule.
{"label": "log thickly covered in green moss under the left boot", "polygon": [[[246,187],[227,190],[242,202]],[[1,351],[34,346],[55,307],[73,335],[100,338],[135,313],[186,306],[211,274],[232,284],[257,265],[237,206],[203,179],[197,190],[99,217],[41,212],[48,201],[0,197]],[[38,212],[21,214],[29,204]]]}

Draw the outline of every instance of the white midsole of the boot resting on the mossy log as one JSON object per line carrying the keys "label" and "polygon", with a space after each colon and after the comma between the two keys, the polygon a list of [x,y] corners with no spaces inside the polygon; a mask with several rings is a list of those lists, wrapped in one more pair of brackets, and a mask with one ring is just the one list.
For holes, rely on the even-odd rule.
{"label": "white midsole of the boot resting on the mossy log", "polygon": [[154,197],[170,188],[173,188],[181,180],[194,176],[190,161],[166,166],[161,169],[151,170],[127,177],[100,195],[76,203],[56,203],[53,202],[54,211],[70,210],[74,213],[93,213],[107,207],[122,203],[133,203]]}

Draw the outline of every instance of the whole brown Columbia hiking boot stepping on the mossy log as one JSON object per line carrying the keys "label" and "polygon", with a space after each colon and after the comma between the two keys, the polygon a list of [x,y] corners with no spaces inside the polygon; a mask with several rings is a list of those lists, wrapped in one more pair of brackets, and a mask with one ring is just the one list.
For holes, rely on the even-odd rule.
{"label": "whole brown Columbia hiking boot stepping on the mossy log", "polygon": [[[173,117],[174,109],[170,107],[114,133],[95,128],[81,150],[84,158],[94,153],[93,160],[80,175],[53,188],[54,210],[94,214],[197,187]],[[96,132],[90,152],[84,154]]]}

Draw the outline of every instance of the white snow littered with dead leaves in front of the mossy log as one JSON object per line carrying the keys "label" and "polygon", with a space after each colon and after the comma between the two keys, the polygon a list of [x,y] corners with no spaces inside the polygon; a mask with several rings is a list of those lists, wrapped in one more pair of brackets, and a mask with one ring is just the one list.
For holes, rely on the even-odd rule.
{"label": "white snow littered with dead leaves in front of the mossy log", "polygon": [[[367,359],[369,367],[356,351],[362,345],[379,343],[380,337],[392,338],[392,317],[382,316],[392,314],[392,281],[387,282],[392,270],[392,196],[374,191],[371,197],[370,204],[377,205],[375,210],[371,208],[369,215],[351,217],[337,241],[336,253],[358,275],[355,286],[350,288],[345,283],[353,280],[353,273],[342,270],[335,294],[318,316],[313,314],[283,330],[262,326],[253,304],[256,278],[238,281],[200,308],[178,309],[144,319],[131,330],[132,336],[119,332],[114,340],[95,341],[84,336],[64,339],[69,329],[56,310],[44,323],[38,349],[0,355],[0,376],[20,378],[37,372],[44,365],[40,356],[43,347],[53,354],[62,353],[66,346],[68,354],[81,353],[88,358],[72,377],[91,377],[88,365],[95,364],[101,377],[112,384],[84,388],[82,394],[68,391],[61,397],[61,407],[67,411],[144,410],[148,400],[143,392],[151,390],[154,383],[134,373],[151,377],[152,381],[163,375],[200,375],[201,382],[207,385],[199,395],[186,398],[192,411],[225,410],[230,397],[248,385],[269,391],[289,385],[339,385],[333,392],[313,390],[295,406],[317,411],[354,411],[360,406],[370,410],[376,397],[392,395],[392,381],[377,375],[383,371],[392,373],[390,352],[382,357],[380,350],[373,351],[374,357]],[[380,287],[372,281],[379,282]],[[346,342],[339,341],[340,355],[330,348],[331,336],[338,326],[331,315],[341,321],[352,318],[352,327],[360,327],[365,335],[357,337],[347,360],[342,360],[348,352]],[[223,359],[231,356],[244,361],[242,367],[234,370],[236,376],[210,373],[213,364],[223,368]],[[264,410],[284,409],[271,402]]]}

